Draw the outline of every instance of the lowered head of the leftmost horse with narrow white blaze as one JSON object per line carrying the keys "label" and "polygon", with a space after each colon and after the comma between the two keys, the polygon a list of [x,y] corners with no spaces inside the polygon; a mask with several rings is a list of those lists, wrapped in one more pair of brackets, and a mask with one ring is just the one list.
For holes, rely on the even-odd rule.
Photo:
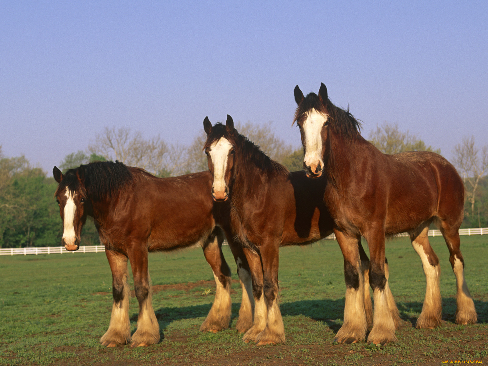
{"label": "lowered head of the leftmost horse with narrow white blaze", "polygon": [[85,224],[87,207],[89,204],[84,188],[85,170],[83,165],[68,170],[65,175],[56,166],[53,175],[59,183],[56,190],[56,202],[60,206],[60,215],[63,222],[61,244],[68,251],[80,248],[81,228]]}

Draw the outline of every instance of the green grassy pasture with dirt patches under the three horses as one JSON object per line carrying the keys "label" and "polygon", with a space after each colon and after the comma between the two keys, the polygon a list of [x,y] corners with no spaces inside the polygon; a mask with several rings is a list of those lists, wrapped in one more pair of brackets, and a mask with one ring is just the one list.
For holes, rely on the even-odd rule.
{"label": "green grassy pasture with dirt patches under the three horses", "polygon": [[[215,285],[200,248],[150,254],[149,270],[162,342],[145,348],[104,348],[112,305],[104,254],[0,257],[0,365],[441,365],[488,362],[488,236],[462,237],[465,273],[479,323],[454,322],[455,277],[442,238],[430,238],[441,262],[443,319],[434,330],[413,325],[422,309],[425,277],[407,238],[389,241],[390,288],[403,325],[398,342],[383,347],[336,345],[342,324],[343,259],[335,241],[280,252],[281,310],[286,345],[257,347],[241,341],[237,320],[241,289],[232,286],[231,328],[203,334]],[[224,254],[238,280],[228,247]],[[138,306],[131,299],[132,330]]]}

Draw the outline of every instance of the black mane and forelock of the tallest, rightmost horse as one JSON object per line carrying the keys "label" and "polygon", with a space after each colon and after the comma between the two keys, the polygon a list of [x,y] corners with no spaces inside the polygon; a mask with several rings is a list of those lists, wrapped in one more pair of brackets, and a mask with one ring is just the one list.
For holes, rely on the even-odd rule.
{"label": "black mane and forelock of the tallest, rightmost horse", "polygon": [[334,133],[347,140],[361,136],[361,123],[349,112],[349,107],[347,107],[347,110],[339,108],[332,104],[328,98],[322,102],[320,97],[315,93],[308,93],[300,103],[295,111],[293,122],[304,118],[314,108],[318,112],[329,116],[329,127]]}

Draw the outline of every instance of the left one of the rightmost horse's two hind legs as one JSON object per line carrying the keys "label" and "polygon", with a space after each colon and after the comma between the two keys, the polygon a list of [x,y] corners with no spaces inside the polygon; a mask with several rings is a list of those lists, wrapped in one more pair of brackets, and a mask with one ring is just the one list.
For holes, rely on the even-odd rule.
{"label": "left one of the rightmost horse's two hind legs", "polygon": [[441,267],[437,255],[428,242],[427,232],[428,226],[425,226],[409,234],[413,249],[422,260],[427,283],[426,297],[416,327],[433,329],[440,325],[442,320]]}

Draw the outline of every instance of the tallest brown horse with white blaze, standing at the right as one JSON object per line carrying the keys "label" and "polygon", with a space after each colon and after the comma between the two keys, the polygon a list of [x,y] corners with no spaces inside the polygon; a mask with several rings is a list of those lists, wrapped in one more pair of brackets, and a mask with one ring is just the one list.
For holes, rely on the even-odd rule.
{"label": "tallest brown horse with white blaze, standing at the right", "polygon": [[[458,229],[463,221],[464,186],[456,169],[431,152],[381,153],[360,134],[360,123],[330,102],[322,83],[319,94],[306,98],[295,87],[298,104],[294,121],[300,127],[307,176],[329,184],[324,200],[342,240],[351,245],[364,236],[369,246],[369,282],[374,291],[373,328],[368,343],[384,344],[395,337],[395,315],[386,295],[385,236],[408,232],[422,259],[427,290],[418,328],[434,328],[441,322],[439,260],[427,231],[439,226],[449,249],[449,261],[457,282],[457,324],[477,320],[473,300],[464,278],[464,260],[459,249]],[[339,237],[338,237],[339,239]],[[351,324],[354,333],[362,320]],[[345,329],[346,330],[346,329]]]}

